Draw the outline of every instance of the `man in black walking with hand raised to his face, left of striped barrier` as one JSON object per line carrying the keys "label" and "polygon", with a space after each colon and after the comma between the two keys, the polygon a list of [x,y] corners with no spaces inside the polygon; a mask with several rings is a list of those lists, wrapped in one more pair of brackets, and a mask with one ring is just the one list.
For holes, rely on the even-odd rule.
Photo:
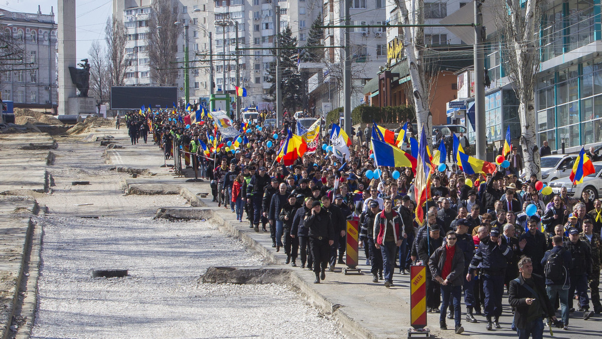
{"label": "man in black walking with hand raised to his face, left of striped barrier", "polygon": [[308,229],[309,249],[314,256],[314,284],[320,284],[320,280],[326,279],[329,246],[335,243],[335,231],[328,212],[321,208],[319,201],[312,203],[303,219]]}

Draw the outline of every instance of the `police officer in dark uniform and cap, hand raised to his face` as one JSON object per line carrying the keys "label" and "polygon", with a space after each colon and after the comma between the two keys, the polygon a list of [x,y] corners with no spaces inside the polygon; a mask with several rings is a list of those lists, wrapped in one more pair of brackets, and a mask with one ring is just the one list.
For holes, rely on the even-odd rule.
{"label": "police officer in dark uniform and cap, hand raised to his face", "polygon": [[466,279],[470,281],[473,278],[474,271],[481,266],[481,275],[483,278],[483,291],[485,292],[485,316],[487,317],[486,329],[491,331],[491,319],[494,319],[493,325],[500,329],[501,316],[501,296],[504,293],[504,277],[506,276],[506,267],[508,260],[514,253],[504,243],[500,237],[500,229],[492,228],[489,231],[489,238],[484,238],[479,244],[473,261],[470,263],[471,273],[468,273]]}

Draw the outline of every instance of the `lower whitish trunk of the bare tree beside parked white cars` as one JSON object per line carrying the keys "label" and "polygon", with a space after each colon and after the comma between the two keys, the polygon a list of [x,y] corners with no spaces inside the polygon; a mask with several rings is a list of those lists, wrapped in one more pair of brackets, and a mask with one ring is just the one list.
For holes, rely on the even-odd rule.
{"label": "lower whitish trunk of the bare tree beside parked white cars", "polygon": [[518,105],[518,115],[521,119],[521,138],[520,144],[523,149],[523,166],[525,178],[536,175],[541,180],[541,170],[539,169],[539,152],[536,145],[537,134],[535,132],[535,112],[529,110],[534,107],[534,102],[520,102]]}

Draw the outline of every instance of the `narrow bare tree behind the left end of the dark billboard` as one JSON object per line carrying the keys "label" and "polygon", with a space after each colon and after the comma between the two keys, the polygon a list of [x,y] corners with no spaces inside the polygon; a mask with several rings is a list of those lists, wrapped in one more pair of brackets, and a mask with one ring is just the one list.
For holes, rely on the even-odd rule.
{"label": "narrow bare tree behind the left end of the dark billboard", "polygon": [[105,42],[107,42],[107,67],[111,86],[123,86],[126,67],[125,43],[127,36],[123,22],[107,17]]}

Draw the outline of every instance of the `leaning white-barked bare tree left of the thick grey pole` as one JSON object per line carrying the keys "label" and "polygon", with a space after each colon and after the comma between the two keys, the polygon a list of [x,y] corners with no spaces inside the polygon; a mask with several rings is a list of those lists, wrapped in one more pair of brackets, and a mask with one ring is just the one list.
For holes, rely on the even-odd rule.
{"label": "leaning white-barked bare tree left of the thick grey pole", "polygon": [[[402,22],[405,25],[420,25],[424,23],[424,0],[394,0]],[[426,63],[424,60],[424,28],[403,28],[403,48],[408,62],[410,79],[412,81],[412,97],[418,133],[424,126],[427,135],[430,135],[433,126],[433,116],[430,113],[430,104],[434,98],[436,88],[436,63]],[[430,140],[430,138],[429,138]]]}

